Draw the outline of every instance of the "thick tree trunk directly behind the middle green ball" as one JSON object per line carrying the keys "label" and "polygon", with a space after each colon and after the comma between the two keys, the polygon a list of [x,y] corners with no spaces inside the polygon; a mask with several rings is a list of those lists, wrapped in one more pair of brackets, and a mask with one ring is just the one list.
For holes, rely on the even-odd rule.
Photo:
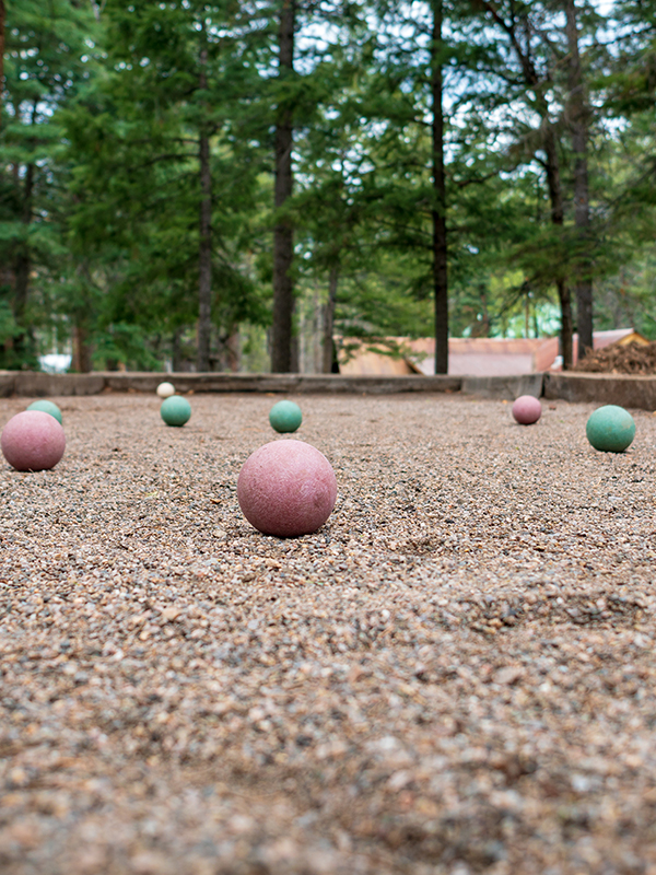
{"label": "thick tree trunk directly behind the middle green ball", "polygon": [[[278,30],[279,75],[294,69],[295,0],[282,0]],[[293,113],[288,102],[278,109],[276,120],[274,207],[281,209],[292,195]],[[271,371],[289,373],[293,365],[294,282],[291,275],[294,230],[290,219],[279,219],[273,228],[273,323],[271,326]]]}

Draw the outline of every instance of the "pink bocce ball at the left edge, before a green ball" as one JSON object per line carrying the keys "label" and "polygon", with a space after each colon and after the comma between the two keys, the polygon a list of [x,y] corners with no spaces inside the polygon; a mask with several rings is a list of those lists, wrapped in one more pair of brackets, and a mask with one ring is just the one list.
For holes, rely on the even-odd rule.
{"label": "pink bocce ball at the left edge, before a green ball", "polygon": [[17,471],[44,471],[54,468],[63,456],[66,435],[50,413],[25,410],[9,420],[0,446]]}

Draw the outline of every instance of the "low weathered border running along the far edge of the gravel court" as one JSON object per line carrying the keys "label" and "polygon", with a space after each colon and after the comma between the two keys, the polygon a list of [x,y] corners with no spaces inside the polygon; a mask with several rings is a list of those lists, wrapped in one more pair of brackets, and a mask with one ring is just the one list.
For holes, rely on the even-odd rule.
{"label": "low weathered border running along the far edge of the gravel court", "polygon": [[102,392],[153,393],[163,381],[186,392],[260,392],[292,394],[390,395],[443,392],[479,398],[513,400],[519,395],[544,396],[579,404],[617,404],[656,410],[656,376],[585,374],[576,372],[520,376],[341,376],[340,374],[215,374],[116,373],[44,374],[33,371],[0,373],[0,398],[17,395],[43,398],[98,395]]}

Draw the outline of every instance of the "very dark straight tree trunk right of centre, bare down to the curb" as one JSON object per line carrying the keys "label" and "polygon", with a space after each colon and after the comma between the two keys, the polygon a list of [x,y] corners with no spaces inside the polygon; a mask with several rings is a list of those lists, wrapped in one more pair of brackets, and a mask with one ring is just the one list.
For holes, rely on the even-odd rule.
{"label": "very dark straight tree trunk right of centre, bare down to the curb", "polygon": [[433,294],[435,373],[448,373],[448,272],[446,248],[446,176],[444,172],[442,0],[433,0],[431,97],[433,110]]}

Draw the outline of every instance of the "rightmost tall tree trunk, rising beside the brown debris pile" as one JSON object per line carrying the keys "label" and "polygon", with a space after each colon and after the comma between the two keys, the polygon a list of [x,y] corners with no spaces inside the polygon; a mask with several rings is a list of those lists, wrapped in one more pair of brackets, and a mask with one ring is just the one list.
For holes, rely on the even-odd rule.
{"label": "rightmost tall tree trunk, rising beside the brown debris pile", "polygon": [[576,277],[576,325],[578,328],[578,357],[593,349],[593,282],[589,276],[589,188],[587,166],[588,106],[578,52],[578,27],[574,0],[564,0],[569,49],[567,120],[574,152],[574,224],[576,225],[581,255]]}

